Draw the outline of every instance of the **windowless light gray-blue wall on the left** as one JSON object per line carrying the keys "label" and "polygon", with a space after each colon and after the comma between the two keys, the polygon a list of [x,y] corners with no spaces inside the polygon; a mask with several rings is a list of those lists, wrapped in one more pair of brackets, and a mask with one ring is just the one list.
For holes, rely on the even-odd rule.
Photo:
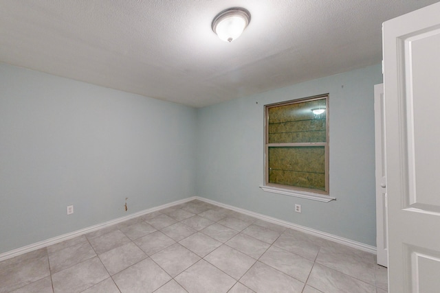
{"label": "windowless light gray-blue wall on the left", "polygon": [[0,64],[0,253],[195,196],[196,119],[187,106]]}

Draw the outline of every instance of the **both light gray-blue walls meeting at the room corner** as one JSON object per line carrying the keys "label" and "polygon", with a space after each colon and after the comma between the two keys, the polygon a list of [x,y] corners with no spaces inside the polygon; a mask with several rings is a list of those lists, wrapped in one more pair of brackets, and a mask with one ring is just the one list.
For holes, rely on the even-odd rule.
{"label": "both light gray-blue walls meeting at the room corner", "polygon": [[[195,110],[0,64],[0,253],[195,195],[375,246],[380,82],[377,65]],[[322,93],[338,200],[261,191],[263,105]]]}

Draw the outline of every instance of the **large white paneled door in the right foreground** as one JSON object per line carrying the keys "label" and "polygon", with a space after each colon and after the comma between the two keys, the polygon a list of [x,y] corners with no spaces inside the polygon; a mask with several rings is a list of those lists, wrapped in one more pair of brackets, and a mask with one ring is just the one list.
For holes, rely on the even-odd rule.
{"label": "large white paneled door in the right foreground", "polygon": [[440,2],[384,30],[388,288],[440,292]]}

